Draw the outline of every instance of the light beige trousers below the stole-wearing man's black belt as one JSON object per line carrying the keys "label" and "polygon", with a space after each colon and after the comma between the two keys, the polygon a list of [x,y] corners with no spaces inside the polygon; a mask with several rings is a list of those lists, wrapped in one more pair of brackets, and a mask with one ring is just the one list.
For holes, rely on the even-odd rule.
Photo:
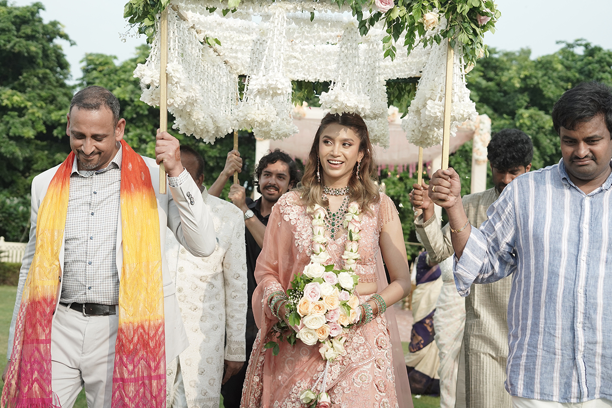
{"label": "light beige trousers below the stole-wearing man's black belt", "polygon": [[51,330],[54,402],[72,408],[85,387],[88,408],[110,408],[118,315],[84,316],[60,305]]}

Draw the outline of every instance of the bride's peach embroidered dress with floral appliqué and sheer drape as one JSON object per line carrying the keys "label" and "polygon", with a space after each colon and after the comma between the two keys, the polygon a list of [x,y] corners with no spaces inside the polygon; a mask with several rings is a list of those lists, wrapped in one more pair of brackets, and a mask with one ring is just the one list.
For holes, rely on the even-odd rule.
{"label": "bride's peach embroidered dress with floral appliqu\u00e9 and sheer drape", "polygon": [[[379,262],[378,239],[381,228],[397,216],[393,202],[381,194],[379,203],[373,205],[373,213],[362,213],[362,231],[359,241],[360,260],[356,273],[360,282],[378,281],[376,268]],[[280,343],[280,352],[274,356],[272,349],[263,345],[273,339],[271,328],[278,320],[267,306],[267,297],[275,290],[286,290],[294,274],[301,273],[312,254],[312,218],[300,205],[296,192],[288,192],[272,208],[264,237],[263,250],[257,260],[255,278],[257,288],[253,293],[253,314],[259,334],[253,345],[242,392],[244,408],[298,408],[299,396],[306,389],[319,391],[319,378],[325,369],[325,361],[319,346],[307,346],[297,340],[294,346]],[[327,252],[337,268],[344,263],[346,233],[331,240],[328,236]],[[381,263],[379,263],[381,265]],[[379,273],[380,274],[380,273]],[[384,272],[383,272],[384,276]],[[366,301],[368,296],[360,297]],[[392,319],[395,325],[395,317]],[[396,325],[397,326],[397,325]],[[395,327],[397,330],[397,327]],[[409,398],[408,377],[405,366],[399,375],[394,373],[389,327],[385,315],[379,315],[367,325],[352,327],[345,336],[346,353],[331,361],[327,371],[326,391],[332,406],[338,408],[391,408],[412,407]],[[401,353],[401,344],[398,344]],[[403,363],[403,355],[399,355]],[[403,365],[403,364],[402,364]],[[405,380],[396,376],[405,376]],[[319,382],[318,382],[319,380]],[[318,384],[317,384],[318,382]],[[400,385],[401,382],[401,385]],[[316,387],[315,387],[316,384]],[[398,405],[398,391],[408,400]],[[401,398],[400,398],[401,399]]]}

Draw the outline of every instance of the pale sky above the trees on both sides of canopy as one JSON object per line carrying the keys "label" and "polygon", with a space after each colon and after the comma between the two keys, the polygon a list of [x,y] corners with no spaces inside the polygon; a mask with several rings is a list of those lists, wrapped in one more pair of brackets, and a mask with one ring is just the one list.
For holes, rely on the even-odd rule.
{"label": "pale sky above the trees on both sides of canopy", "polygon": [[[11,1],[11,0],[9,0]],[[73,81],[81,76],[86,53],[117,56],[118,62],[132,58],[136,46],[146,42],[144,36],[129,31],[123,9],[127,0],[39,0],[45,6],[44,21],[57,20],[76,42],[72,47],[62,41],[70,62]],[[13,0],[23,6],[32,0]],[[485,43],[500,50],[530,48],[532,58],[559,50],[559,40],[572,42],[584,38],[594,45],[612,49],[608,31],[612,15],[611,0],[496,0],[502,17],[496,32],[485,35]],[[122,35],[122,34],[126,34]]]}

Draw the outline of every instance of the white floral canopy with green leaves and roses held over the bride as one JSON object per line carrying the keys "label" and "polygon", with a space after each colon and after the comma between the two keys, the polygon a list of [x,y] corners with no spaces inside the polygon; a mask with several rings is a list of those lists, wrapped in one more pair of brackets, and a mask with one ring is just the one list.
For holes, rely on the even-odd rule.
{"label": "white floral canopy with green leaves and roses held over the bride", "polygon": [[[135,70],[143,88],[141,99],[159,104],[160,38],[153,13],[168,7],[168,110],[176,118],[175,129],[209,143],[241,128],[252,128],[259,138],[285,138],[296,132],[291,120],[291,81],[330,81],[329,92],[320,96],[322,107],[359,113],[372,141],[388,146],[386,80],[425,76],[430,53],[438,50],[442,37],[457,42],[457,47],[463,44],[458,53],[465,54],[468,61],[472,61],[474,47],[482,44],[482,33],[474,34],[472,29],[476,40],[470,42],[465,30],[453,28],[461,19],[450,17],[450,23],[440,27],[438,21],[445,19],[446,12],[438,2],[405,3],[131,0],[125,15],[150,34],[152,42],[151,55]],[[496,17],[498,13],[490,11],[494,10],[492,2],[466,0],[465,4],[462,27],[466,21],[476,31],[493,27],[494,20],[477,20]],[[402,35],[409,54],[395,52]],[[464,38],[457,41],[461,36]],[[416,40],[426,47],[412,49]],[[239,75],[247,77],[242,99]],[[469,101],[464,75],[459,67],[457,95]],[[430,77],[440,80],[436,74]],[[466,119],[475,114],[466,111],[468,105],[460,107]],[[436,110],[431,112],[437,115]],[[460,121],[463,116],[453,119]],[[430,122],[422,121],[416,129]],[[424,145],[431,145],[436,137],[432,135]],[[414,142],[419,144],[421,139],[416,137]]]}

